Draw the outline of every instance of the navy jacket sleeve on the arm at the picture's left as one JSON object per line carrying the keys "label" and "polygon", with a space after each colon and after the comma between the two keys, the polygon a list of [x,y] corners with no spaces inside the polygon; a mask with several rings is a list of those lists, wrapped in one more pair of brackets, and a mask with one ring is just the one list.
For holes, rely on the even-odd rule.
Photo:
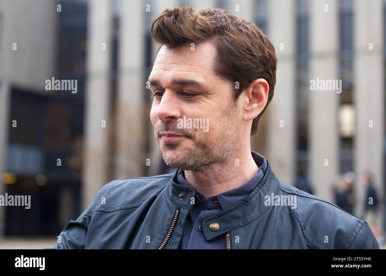
{"label": "navy jacket sleeve on the arm at the picture's left", "polygon": [[90,225],[91,215],[95,209],[94,202],[99,202],[104,190],[111,182],[99,190],[95,200],[88,205],[76,220],[70,220],[70,222],[68,222],[67,226],[59,234],[56,246],[43,249],[85,249],[87,230]]}

